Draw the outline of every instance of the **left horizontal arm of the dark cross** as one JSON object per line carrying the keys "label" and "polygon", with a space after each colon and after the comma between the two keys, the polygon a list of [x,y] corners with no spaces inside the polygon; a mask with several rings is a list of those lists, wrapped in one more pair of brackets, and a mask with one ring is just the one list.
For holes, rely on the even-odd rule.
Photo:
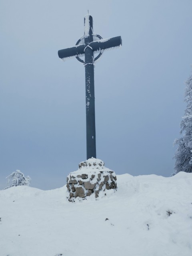
{"label": "left horizontal arm of the dark cross", "polygon": [[77,54],[84,54],[86,44],[80,44],[74,47],[66,48],[58,51],[58,56],[61,59],[74,57]]}

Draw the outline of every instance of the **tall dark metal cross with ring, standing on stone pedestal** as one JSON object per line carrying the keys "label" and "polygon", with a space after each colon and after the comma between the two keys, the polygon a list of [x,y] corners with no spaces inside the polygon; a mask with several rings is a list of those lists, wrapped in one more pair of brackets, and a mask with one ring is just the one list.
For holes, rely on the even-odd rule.
{"label": "tall dark metal cross with ring, standing on stone pedestal", "polygon": [[[87,159],[96,158],[96,132],[95,132],[95,95],[94,95],[94,61],[96,61],[104,50],[122,45],[120,36],[102,39],[93,33],[93,18],[90,15],[84,17],[84,36],[76,43],[76,46],[58,51],[59,58],[76,57],[85,66],[86,85],[86,144]],[[94,58],[94,54],[99,52]],[[80,56],[84,55],[85,60]]]}

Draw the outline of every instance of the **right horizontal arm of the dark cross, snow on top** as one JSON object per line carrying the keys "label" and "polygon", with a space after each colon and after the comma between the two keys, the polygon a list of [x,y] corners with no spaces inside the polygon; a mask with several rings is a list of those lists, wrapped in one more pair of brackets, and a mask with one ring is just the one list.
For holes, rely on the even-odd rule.
{"label": "right horizontal arm of the dark cross, snow on top", "polygon": [[122,39],[120,36],[108,38],[108,39],[101,39],[98,41],[91,42],[89,46],[92,48],[94,52],[100,51],[102,49],[106,50],[113,47],[119,47],[122,45]]}

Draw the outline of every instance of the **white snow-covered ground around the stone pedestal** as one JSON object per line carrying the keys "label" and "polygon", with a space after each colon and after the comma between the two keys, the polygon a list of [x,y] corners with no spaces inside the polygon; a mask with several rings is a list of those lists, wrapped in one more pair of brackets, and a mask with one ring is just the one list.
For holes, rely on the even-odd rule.
{"label": "white snow-covered ground around the stone pedestal", "polygon": [[118,189],[72,203],[66,186],[0,191],[0,256],[191,256],[192,174],[117,175]]}

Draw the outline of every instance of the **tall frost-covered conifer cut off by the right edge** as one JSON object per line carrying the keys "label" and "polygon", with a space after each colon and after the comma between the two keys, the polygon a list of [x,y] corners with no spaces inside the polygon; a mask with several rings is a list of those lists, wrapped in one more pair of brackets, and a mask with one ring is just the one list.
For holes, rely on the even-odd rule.
{"label": "tall frost-covered conifer cut off by the right edge", "polygon": [[182,138],[176,139],[174,144],[178,145],[174,158],[176,159],[174,173],[192,172],[192,75],[186,81],[184,102],[187,103],[185,114],[181,121]]}

